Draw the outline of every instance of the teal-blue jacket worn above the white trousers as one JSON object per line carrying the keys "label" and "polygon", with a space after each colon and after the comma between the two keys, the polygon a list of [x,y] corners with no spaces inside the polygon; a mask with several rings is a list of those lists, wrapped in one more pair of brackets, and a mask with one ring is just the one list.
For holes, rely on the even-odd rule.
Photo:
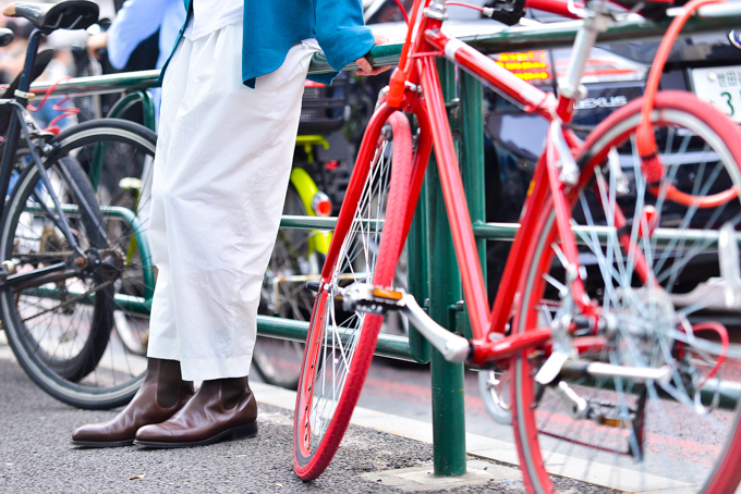
{"label": "teal-blue jacket worn above the white trousers", "polygon": [[[192,0],[184,2],[187,18],[174,47],[193,15]],[[244,84],[255,87],[256,77],[277,70],[286,60],[288,50],[308,38],[317,39],[327,61],[338,72],[370,51],[374,45],[373,33],[363,23],[361,0],[244,0]],[[168,62],[162,66],[162,74]],[[336,75],[317,74],[309,78],[329,84]]]}

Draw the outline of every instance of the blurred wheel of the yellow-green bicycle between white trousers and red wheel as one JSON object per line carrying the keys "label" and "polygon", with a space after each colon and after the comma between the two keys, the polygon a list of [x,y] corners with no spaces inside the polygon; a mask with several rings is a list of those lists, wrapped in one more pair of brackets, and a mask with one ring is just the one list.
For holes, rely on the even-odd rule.
{"label": "blurred wheel of the yellow-green bicycle between white trousers and red wheel", "polygon": [[[283,214],[306,215],[301,196],[289,183],[283,203]],[[318,252],[309,252],[306,230],[280,229],[270,255],[260,294],[259,313],[296,321],[307,321],[312,316],[314,299],[305,289],[305,276],[317,275],[324,260]],[[292,276],[299,280],[293,281]],[[301,375],[304,345],[289,339],[257,336],[252,363],[268,384],[296,390]]]}

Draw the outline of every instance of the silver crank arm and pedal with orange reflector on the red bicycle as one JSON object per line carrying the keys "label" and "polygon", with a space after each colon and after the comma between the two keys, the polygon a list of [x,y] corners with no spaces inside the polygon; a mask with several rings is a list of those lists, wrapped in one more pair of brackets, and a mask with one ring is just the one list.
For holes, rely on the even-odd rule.
{"label": "silver crank arm and pedal with orange reflector on the red bicycle", "polygon": [[469,341],[435,322],[411,294],[376,288],[372,285],[360,285],[342,294],[342,296],[347,310],[375,314],[385,314],[389,310],[400,311],[449,362],[463,363],[471,355]]}

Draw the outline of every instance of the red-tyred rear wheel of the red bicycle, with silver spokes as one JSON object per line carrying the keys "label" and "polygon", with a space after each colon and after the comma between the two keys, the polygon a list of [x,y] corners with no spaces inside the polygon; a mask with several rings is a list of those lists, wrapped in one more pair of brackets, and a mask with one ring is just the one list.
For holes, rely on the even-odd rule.
{"label": "red-tyred rear wheel of the red bicycle, with silver spokes", "polygon": [[[741,185],[741,133],[719,112],[691,95],[659,92],[653,118],[666,166],[659,188],[672,184],[709,197]],[[739,482],[741,353],[724,344],[733,329],[722,322],[741,312],[741,201],[687,207],[652,194],[635,147],[639,121],[635,101],[585,144],[580,164],[588,184],[573,194],[572,223],[598,317],[554,343],[562,351],[579,348],[583,365],[615,367],[602,378],[561,374],[540,385],[533,378],[544,355],[512,361],[515,437],[530,492],[552,492],[548,473],[629,492],[725,493]],[[543,235],[519,285],[514,333],[579,319],[563,298],[567,270],[550,201],[540,221]],[[721,232],[729,245],[719,243]],[[579,336],[593,329],[598,336]],[[625,368],[667,374],[616,376]]]}

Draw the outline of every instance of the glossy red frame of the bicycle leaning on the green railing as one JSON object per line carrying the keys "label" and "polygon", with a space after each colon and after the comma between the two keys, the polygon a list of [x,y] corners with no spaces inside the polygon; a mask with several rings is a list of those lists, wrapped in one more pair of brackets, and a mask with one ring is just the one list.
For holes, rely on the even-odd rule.
{"label": "glossy red frame of the bicycle leaning on the green railing", "polygon": [[[538,1],[542,8],[543,4],[552,3],[554,11],[563,10],[564,2],[562,1]],[[413,171],[412,194],[405,218],[405,234],[409,232],[412,222],[430,148],[433,146],[435,148],[442,195],[450,219],[455,256],[461,270],[463,294],[473,332],[471,343],[474,351],[470,363],[482,366],[506,359],[524,348],[543,346],[550,338],[549,328],[509,337],[505,337],[505,330],[511,316],[518,289],[517,275],[521,271],[532,238],[538,234],[535,224],[538,210],[532,205],[543,205],[548,196],[551,197],[552,207],[557,211],[557,231],[561,240],[561,248],[568,263],[574,269],[579,269],[576,243],[569,225],[573,198],[569,197],[571,187],[564,185],[559,178],[560,170],[556,163],[560,153],[550,137],[551,133],[549,133],[546,152],[538,161],[533,177],[532,193],[525,201],[525,214],[515,235],[500,289],[494,308],[490,308],[435,59],[445,57],[491,85],[511,100],[522,104],[525,111],[537,113],[549,120],[551,126],[557,125],[555,132],[562,133],[563,140],[569,148],[568,152],[571,153],[580,148],[581,141],[571,131],[563,129],[560,124],[571,121],[575,98],[561,95],[557,99],[552,94],[545,92],[518,78],[499,66],[494,60],[459,39],[445,35],[440,32],[442,20],[435,18],[434,15],[426,13],[430,3],[433,3],[432,0],[417,0],[415,2],[412,21],[414,22],[417,18],[421,8],[425,8],[425,13],[422,14],[415,29],[410,28],[399,67],[391,77],[386,101],[377,109],[366,132],[370,133],[369,135],[376,135],[388,115],[394,110],[412,112],[417,118],[421,132],[418,152]],[[412,40],[413,36],[414,40]],[[357,163],[370,163],[374,144],[372,140],[363,140]],[[354,180],[365,180],[367,170],[363,170],[362,173],[355,174]],[[352,184],[349,190],[354,190]],[[356,198],[351,197],[345,200],[345,203],[354,203],[355,201]],[[342,229],[341,231],[343,231],[348,227],[349,224],[338,224],[338,230]],[[332,264],[333,262],[328,260],[325,265]],[[324,274],[327,276],[329,273]],[[595,309],[588,302],[583,301],[587,298],[581,280],[576,279],[572,283],[571,291],[581,312],[588,316],[594,314]],[[496,333],[498,337],[493,338],[491,333]]]}

